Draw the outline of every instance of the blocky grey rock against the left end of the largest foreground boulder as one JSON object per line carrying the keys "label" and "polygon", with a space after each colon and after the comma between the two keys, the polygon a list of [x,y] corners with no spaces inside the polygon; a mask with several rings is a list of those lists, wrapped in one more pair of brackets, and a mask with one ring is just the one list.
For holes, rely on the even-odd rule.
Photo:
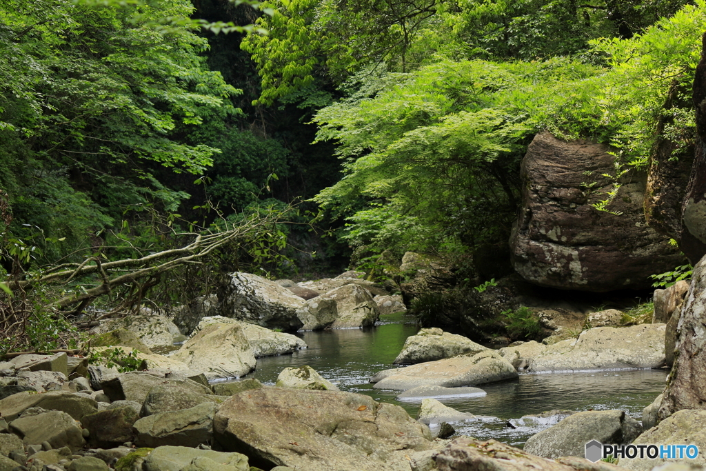
{"label": "blocky grey rock against the left end of the largest foreground boulder", "polygon": [[167,444],[196,447],[213,436],[215,404],[204,403],[190,409],[162,412],[139,419],[133,425],[135,443],[155,448]]}

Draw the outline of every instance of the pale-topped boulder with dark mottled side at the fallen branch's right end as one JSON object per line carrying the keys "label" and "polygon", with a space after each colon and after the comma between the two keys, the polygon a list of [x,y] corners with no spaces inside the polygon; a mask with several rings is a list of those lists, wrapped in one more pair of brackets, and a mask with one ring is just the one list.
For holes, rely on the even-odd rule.
{"label": "pale-topped boulder with dark mottled side at the fallen branch's right end", "polygon": [[213,311],[258,326],[297,330],[303,325],[297,309],[303,305],[304,299],[267,278],[236,272],[218,290]]}

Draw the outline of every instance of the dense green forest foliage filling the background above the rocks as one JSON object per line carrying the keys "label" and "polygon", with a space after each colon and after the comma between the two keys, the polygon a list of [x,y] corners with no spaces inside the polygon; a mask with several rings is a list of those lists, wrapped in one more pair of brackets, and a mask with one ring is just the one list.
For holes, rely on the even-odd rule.
{"label": "dense green forest foliage filling the background above the rocks", "polygon": [[[222,273],[508,270],[535,133],[693,152],[701,0],[8,0],[0,351]],[[387,273],[390,273],[389,270]],[[52,338],[42,333],[54,332]]]}

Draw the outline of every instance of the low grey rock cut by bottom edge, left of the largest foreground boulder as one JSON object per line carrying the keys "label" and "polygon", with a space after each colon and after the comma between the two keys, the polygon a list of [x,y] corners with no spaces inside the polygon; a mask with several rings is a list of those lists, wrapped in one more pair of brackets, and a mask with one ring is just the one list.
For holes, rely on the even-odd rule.
{"label": "low grey rock cut by bottom edge, left of the largest foreground boulder", "polygon": [[[215,463],[234,468],[232,471],[249,471],[248,458],[240,453],[222,453],[220,451],[197,450],[186,446],[160,446],[150,453],[143,463],[144,471],[181,471],[193,464],[198,458],[208,458]],[[198,465],[197,465],[198,466]],[[196,468],[198,469],[198,467]],[[205,468],[212,471],[212,467]],[[220,468],[222,471],[231,471]],[[196,471],[189,469],[189,471]],[[215,470],[213,470],[215,471]]]}

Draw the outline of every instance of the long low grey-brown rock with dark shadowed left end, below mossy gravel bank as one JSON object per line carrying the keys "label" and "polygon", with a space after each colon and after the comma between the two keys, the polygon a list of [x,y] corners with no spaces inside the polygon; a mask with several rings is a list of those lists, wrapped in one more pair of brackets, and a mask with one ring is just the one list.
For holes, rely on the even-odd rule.
{"label": "long low grey-brown rock with dark shadowed left end, below mossy gravel bank", "polygon": [[147,398],[152,388],[164,384],[172,385],[174,388],[181,390],[189,390],[193,393],[211,393],[210,388],[196,383],[196,381],[164,378],[141,371],[120,374],[102,382],[103,392],[108,395],[110,400],[131,400],[140,404],[145,402],[145,398]]}

